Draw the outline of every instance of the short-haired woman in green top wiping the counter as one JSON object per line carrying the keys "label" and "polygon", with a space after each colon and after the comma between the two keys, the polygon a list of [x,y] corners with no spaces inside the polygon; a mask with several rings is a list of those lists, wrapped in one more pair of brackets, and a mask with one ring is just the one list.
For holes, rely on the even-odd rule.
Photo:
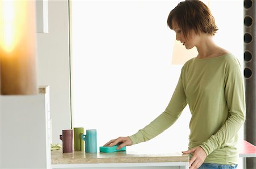
{"label": "short-haired woman in green top wiping the counter", "polygon": [[191,111],[189,154],[192,168],[237,168],[238,130],[245,120],[245,97],[240,64],[212,39],[217,26],[201,1],[180,2],[167,20],[176,39],[198,54],[181,69],[166,111],[133,136],[119,137],[105,146],[134,145],[169,128],[188,104]]}

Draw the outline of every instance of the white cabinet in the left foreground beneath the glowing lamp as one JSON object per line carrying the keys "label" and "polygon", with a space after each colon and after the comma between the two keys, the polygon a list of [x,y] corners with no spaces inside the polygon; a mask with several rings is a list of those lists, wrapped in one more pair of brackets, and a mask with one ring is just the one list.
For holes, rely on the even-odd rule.
{"label": "white cabinet in the left foreground beneath the glowing lamp", "polygon": [[0,96],[0,168],[51,168],[49,87]]}

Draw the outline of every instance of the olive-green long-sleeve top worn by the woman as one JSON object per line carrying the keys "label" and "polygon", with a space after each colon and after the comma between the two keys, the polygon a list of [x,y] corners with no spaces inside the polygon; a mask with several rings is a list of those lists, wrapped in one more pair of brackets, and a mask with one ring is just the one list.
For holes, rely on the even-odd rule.
{"label": "olive-green long-sleeve top worn by the woman", "polygon": [[166,110],[130,136],[133,144],[169,128],[187,104],[191,111],[188,148],[201,146],[207,163],[237,164],[237,132],[245,120],[245,92],[237,58],[228,53],[187,61]]}

